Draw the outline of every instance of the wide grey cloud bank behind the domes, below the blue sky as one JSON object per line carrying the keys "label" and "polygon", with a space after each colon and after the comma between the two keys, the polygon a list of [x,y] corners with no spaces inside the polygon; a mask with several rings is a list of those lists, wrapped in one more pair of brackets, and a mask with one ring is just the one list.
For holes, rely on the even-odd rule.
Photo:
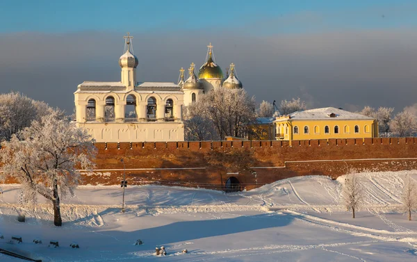
{"label": "wide grey cloud bank behind the domes, below the blue sky", "polygon": [[[258,101],[302,97],[310,106],[404,108],[417,97],[417,33],[407,30],[247,35],[241,31],[132,33],[138,81],[178,79],[214,44],[223,71]],[[120,81],[122,33],[0,34],[0,92],[19,90],[68,112],[83,81]],[[354,106],[353,106],[354,105]]]}

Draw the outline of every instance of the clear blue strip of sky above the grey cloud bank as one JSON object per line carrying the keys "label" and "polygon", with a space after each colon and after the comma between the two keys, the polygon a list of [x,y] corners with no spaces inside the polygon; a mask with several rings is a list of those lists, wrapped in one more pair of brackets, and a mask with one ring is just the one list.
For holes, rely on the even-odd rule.
{"label": "clear blue strip of sky above the grey cloud bank", "polygon": [[0,33],[230,31],[300,33],[417,26],[417,1],[1,1]]}

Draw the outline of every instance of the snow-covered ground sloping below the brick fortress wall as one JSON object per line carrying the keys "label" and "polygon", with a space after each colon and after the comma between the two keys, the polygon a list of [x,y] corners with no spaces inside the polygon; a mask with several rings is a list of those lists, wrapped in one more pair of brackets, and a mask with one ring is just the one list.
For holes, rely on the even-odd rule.
{"label": "snow-covered ground sloping below the brick fortress wall", "polygon": [[[361,173],[366,203],[354,220],[339,205],[341,183],[294,177],[242,193],[164,186],[80,186],[52,207],[16,204],[18,185],[0,185],[0,248],[42,261],[405,261],[417,259],[417,222],[399,213],[407,174]],[[26,222],[17,222],[17,211]],[[417,220],[417,214],[416,214]],[[23,243],[9,243],[22,236]],[[35,245],[33,239],[42,239]],[[134,245],[136,240],[143,245]],[[60,247],[49,247],[58,240]],[[72,242],[79,249],[70,247]],[[155,256],[164,246],[167,256]],[[188,254],[181,251],[188,249]],[[0,261],[19,261],[0,254]]]}

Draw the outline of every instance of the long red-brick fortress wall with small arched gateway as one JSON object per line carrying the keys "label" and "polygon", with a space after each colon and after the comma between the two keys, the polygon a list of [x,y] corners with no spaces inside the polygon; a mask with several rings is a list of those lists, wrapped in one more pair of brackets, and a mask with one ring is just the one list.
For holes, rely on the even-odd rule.
{"label": "long red-brick fortress wall with small arched gateway", "polygon": [[334,179],[350,168],[417,169],[417,138],[288,141],[97,143],[97,167],[85,184],[119,184],[124,159],[129,184],[156,183],[224,190],[229,177],[250,190],[279,179],[322,174]]}

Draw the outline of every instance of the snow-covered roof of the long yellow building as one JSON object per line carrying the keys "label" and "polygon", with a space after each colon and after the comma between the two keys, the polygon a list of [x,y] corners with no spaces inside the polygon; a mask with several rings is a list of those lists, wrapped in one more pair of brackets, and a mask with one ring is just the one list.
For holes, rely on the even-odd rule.
{"label": "snow-covered roof of the long yellow building", "polygon": [[[375,120],[373,117],[367,117],[365,115],[360,115],[358,113],[352,113],[346,110],[334,108],[334,107],[325,107],[325,108],[315,108],[304,111],[297,111],[289,115],[293,120],[323,120],[329,119],[332,117],[332,120]],[[281,117],[281,116],[280,116]],[[282,120],[286,120],[286,117],[282,117]],[[277,118],[276,121],[281,121]]]}

